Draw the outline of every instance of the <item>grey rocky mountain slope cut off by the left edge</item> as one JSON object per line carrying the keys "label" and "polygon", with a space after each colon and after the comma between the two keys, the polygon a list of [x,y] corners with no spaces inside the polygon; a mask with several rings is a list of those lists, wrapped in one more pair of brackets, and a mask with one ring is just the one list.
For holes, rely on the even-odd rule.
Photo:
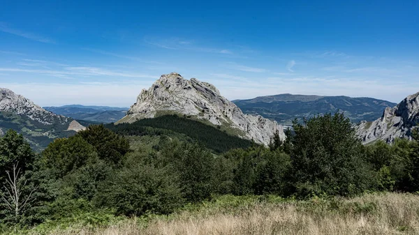
{"label": "grey rocky mountain slope cut off by the left edge", "polygon": [[0,88],[0,135],[9,129],[22,134],[34,147],[43,149],[52,140],[84,129],[74,119],[49,112],[9,89]]}

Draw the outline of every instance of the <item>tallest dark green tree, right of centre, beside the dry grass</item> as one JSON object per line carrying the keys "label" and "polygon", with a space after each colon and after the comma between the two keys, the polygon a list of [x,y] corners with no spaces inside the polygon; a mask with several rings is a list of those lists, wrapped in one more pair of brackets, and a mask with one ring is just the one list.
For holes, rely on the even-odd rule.
{"label": "tallest dark green tree, right of centre, beside the dry grass", "polygon": [[291,151],[293,183],[299,195],[356,195],[374,184],[351,121],[325,114],[295,121]]}

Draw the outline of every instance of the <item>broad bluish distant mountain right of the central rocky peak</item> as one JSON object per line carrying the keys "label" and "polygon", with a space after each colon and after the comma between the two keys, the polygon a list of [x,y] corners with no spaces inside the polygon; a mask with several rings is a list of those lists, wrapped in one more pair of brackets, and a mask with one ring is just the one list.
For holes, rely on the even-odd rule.
{"label": "broad bluish distant mountain right of the central rocky peak", "polygon": [[249,100],[233,100],[245,114],[259,114],[282,125],[291,125],[293,119],[309,118],[316,114],[335,113],[338,110],[353,123],[374,121],[385,107],[396,103],[374,98],[351,98],[348,96],[304,96],[280,94],[260,96]]}

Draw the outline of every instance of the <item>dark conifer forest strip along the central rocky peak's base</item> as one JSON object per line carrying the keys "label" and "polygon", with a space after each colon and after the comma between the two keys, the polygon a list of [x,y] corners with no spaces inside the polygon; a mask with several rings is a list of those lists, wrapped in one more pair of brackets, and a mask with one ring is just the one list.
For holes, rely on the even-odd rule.
{"label": "dark conifer forest strip along the central rocky peak's base", "polygon": [[191,139],[200,142],[206,148],[212,149],[216,153],[223,153],[230,149],[247,148],[253,144],[249,140],[228,135],[218,128],[205,125],[200,121],[177,115],[159,116],[155,119],[141,119],[131,124],[121,123],[116,126],[108,125],[106,127],[121,135],[148,135],[146,127],[172,130],[191,137]]}

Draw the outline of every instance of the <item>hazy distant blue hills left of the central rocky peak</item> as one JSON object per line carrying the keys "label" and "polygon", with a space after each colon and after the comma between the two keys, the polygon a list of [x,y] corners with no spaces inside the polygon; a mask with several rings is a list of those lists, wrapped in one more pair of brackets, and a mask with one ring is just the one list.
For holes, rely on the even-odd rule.
{"label": "hazy distant blue hills left of the central rocky peak", "polygon": [[59,107],[43,107],[50,112],[69,116],[76,120],[91,123],[113,123],[122,119],[128,107],[64,105]]}

